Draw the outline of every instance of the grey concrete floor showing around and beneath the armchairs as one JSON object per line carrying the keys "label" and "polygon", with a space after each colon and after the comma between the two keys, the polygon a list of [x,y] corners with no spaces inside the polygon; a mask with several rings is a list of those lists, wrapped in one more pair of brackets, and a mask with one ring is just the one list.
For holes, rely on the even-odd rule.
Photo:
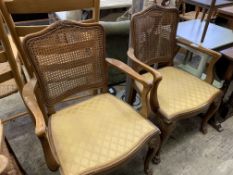
{"label": "grey concrete floor showing around and beneath the armchairs", "polygon": [[[25,110],[18,94],[1,99],[0,104],[0,118]],[[152,165],[154,175],[233,175],[233,117],[223,123],[222,133],[209,126],[207,135],[199,132],[200,121],[195,117],[178,124],[164,146],[162,162]],[[5,133],[28,175],[59,175],[47,169],[29,116],[5,125]],[[143,151],[109,174],[143,175]]]}

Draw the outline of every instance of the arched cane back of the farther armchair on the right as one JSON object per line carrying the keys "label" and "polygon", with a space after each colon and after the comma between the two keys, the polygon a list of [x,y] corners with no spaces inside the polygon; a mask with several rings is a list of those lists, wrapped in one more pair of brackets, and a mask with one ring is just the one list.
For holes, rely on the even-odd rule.
{"label": "arched cane back of the farther armchair on the right", "polygon": [[135,56],[148,65],[172,62],[178,19],[176,8],[157,5],[135,14],[131,21]]}

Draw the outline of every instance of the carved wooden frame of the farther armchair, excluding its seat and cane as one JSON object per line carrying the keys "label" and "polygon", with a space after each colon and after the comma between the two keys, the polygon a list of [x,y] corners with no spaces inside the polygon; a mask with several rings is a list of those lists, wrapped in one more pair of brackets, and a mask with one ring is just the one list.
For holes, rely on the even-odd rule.
{"label": "carved wooden frame of the farther armchair, excluding its seat and cane", "polygon": [[[143,15],[146,15],[147,13],[150,13],[151,11],[153,12],[153,10],[161,10],[163,12],[166,12],[166,11],[174,11],[177,14],[177,22],[178,22],[178,11],[177,9],[166,9],[166,8],[162,8],[162,7],[159,7],[159,6],[152,6],[148,9],[146,9],[145,11],[142,11],[142,12],[139,12],[137,14],[135,14],[132,18],[132,21],[131,21],[131,36],[132,36],[132,47],[135,48],[135,38],[137,37],[136,33],[135,33],[135,20],[138,18],[138,17],[142,17]],[[186,47],[189,47],[189,48],[192,48],[192,49],[196,49],[198,50],[199,52],[202,52],[202,53],[205,53],[205,54],[208,54],[212,57],[210,63],[208,64],[207,66],[207,77],[205,79],[205,81],[209,84],[212,84],[213,82],[213,79],[214,79],[214,65],[215,63],[217,62],[217,60],[221,57],[221,54],[219,54],[218,52],[215,52],[215,51],[212,51],[212,50],[209,50],[209,49],[206,49],[204,47],[202,47],[201,45],[194,45],[194,44],[191,44],[189,42],[186,42],[182,39],[178,39],[176,40],[176,31],[173,31],[174,32],[174,35],[173,35],[173,38],[170,38],[170,42],[174,44],[174,48],[176,47],[176,43],[178,42],[179,44],[182,44],[182,45],[185,45]],[[176,49],[174,49],[172,52],[172,55],[173,57],[171,57],[169,60],[158,60],[156,61],[155,59],[153,61],[150,61],[150,62],[147,62],[147,63],[144,63],[143,60],[139,59],[136,54],[135,54],[135,50],[133,48],[129,48],[128,50],[128,58],[130,60],[130,63],[132,64],[132,67],[135,68],[135,70],[137,72],[140,72],[141,70],[145,70],[146,72],[149,72],[152,76],[153,76],[153,87],[152,87],[152,90],[150,92],[150,98],[149,98],[149,103],[150,103],[150,108],[147,108],[146,110],[146,113],[147,115],[152,115],[152,116],[155,116],[154,119],[156,120],[156,124],[157,126],[160,128],[162,134],[161,134],[161,147],[162,145],[167,141],[167,139],[169,138],[169,136],[171,135],[172,131],[174,130],[175,126],[176,126],[176,123],[177,121],[179,120],[182,120],[182,119],[185,119],[185,118],[190,118],[190,117],[194,117],[202,112],[204,112],[206,110],[206,107],[208,107],[208,111],[205,113],[205,116],[203,117],[203,120],[202,120],[202,124],[201,124],[201,131],[206,134],[207,133],[207,123],[208,121],[210,120],[210,118],[215,114],[215,112],[218,110],[219,108],[219,105],[220,105],[220,99],[221,99],[221,96],[222,96],[222,93],[220,91],[220,93],[215,96],[214,98],[212,99],[209,99],[209,102],[208,104],[206,104],[205,106],[203,106],[202,108],[200,109],[196,109],[192,112],[189,112],[189,113],[182,113],[178,116],[176,116],[175,120],[167,120],[165,117],[163,117],[163,114],[160,113],[159,111],[159,102],[158,102],[158,96],[157,96],[157,89],[158,89],[158,86],[159,86],[159,83],[161,82],[162,80],[162,76],[161,74],[155,70],[154,68],[151,67],[151,65],[154,65],[154,64],[160,64],[160,63],[163,63],[162,65],[163,66],[171,66],[173,65],[173,57],[175,56],[175,53],[176,53]],[[149,51],[148,51],[149,52]],[[137,53],[137,52],[136,52]],[[200,80],[201,81],[201,80]],[[136,91],[134,90],[136,89],[138,93],[140,93],[140,91],[137,89],[137,87],[135,86],[135,84],[133,83],[132,87],[130,88],[129,90],[129,103],[132,104],[133,103],[133,100],[135,98],[135,95],[136,95]],[[144,102],[144,99],[141,100],[143,103]],[[161,147],[160,147],[160,150],[161,150]],[[160,162],[160,150],[158,151],[158,155],[154,157],[154,162],[155,163],[159,163]]]}

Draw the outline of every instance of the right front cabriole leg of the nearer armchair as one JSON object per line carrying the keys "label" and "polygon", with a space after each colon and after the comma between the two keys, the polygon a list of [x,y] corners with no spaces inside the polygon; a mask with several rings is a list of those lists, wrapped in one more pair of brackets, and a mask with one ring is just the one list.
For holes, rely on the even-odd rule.
{"label": "right front cabriole leg of the nearer armchair", "polygon": [[149,148],[146,154],[146,159],[144,162],[144,172],[146,175],[152,175],[153,171],[150,169],[150,162],[153,158],[153,155],[158,151],[160,147],[160,136],[157,134],[149,142]]}

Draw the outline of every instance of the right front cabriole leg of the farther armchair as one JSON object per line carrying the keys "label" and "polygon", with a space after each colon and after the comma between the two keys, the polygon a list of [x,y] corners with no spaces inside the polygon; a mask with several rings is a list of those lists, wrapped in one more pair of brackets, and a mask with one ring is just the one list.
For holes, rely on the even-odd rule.
{"label": "right front cabriole leg of the farther armchair", "polygon": [[218,108],[219,108],[219,105],[220,105],[220,103],[219,103],[219,101],[217,102],[213,102],[211,105],[210,105],[210,107],[209,107],[209,109],[208,109],[208,111],[207,111],[207,113],[205,114],[205,116],[203,117],[203,120],[202,120],[202,123],[201,123],[201,132],[203,133],[203,134],[207,134],[207,124],[208,124],[208,121],[210,120],[210,118],[211,117],[213,117],[213,115],[216,113],[216,111],[218,110]]}

